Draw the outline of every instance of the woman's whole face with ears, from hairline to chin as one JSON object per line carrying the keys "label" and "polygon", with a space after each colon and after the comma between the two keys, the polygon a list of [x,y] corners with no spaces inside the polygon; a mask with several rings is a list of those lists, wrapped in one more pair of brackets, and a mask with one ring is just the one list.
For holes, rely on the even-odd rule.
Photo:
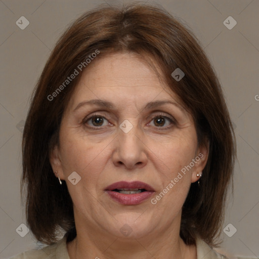
{"label": "woman's whole face with ears, from hairline to chin", "polygon": [[141,238],[180,227],[206,157],[176,95],[136,54],[116,53],[83,72],[51,163],[66,181],[76,226]]}

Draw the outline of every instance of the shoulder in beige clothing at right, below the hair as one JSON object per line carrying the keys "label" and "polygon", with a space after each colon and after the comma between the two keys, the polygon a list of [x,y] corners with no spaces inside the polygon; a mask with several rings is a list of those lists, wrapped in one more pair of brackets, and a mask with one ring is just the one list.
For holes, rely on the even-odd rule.
{"label": "shoulder in beige clothing at right, below the hair", "polygon": [[197,259],[228,259],[225,255],[216,252],[202,239],[196,239]]}

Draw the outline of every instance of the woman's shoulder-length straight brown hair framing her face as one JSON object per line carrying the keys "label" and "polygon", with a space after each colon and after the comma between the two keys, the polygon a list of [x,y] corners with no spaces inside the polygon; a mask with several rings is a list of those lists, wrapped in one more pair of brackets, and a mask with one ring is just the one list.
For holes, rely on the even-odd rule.
{"label": "woman's shoulder-length straight brown hair framing her face", "polygon": [[[180,235],[188,245],[195,244],[198,236],[216,245],[236,154],[222,89],[192,32],[161,7],[143,4],[101,6],[84,13],[61,36],[47,61],[33,93],[22,142],[22,186],[27,187],[30,230],[47,244],[57,241],[60,228],[71,234],[70,239],[76,235],[71,197],[66,183],[60,186],[54,176],[49,155],[59,144],[62,114],[80,75],[62,91],[57,88],[97,50],[96,59],[115,51],[154,57],[168,87],[192,114],[199,145],[209,140],[200,186],[191,185],[183,206]],[[171,76],[176,68],[185,73],[180,81]],[[50,98],[55,91],[55,98]]]}

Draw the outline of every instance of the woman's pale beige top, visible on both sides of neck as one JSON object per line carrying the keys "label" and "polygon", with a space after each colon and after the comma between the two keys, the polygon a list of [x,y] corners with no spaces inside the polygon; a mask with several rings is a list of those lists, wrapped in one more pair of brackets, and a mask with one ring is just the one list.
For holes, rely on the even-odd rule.
{"label": "woman's pale beige top, visible on both sides of neck", "polygon": [[[226,256],[214,251],[202,239],[196,239],[197,259],[227,259]],[[55,244],[38,250],[29,250],[9,259],[70,259],[67,251],[66,236]]]}

